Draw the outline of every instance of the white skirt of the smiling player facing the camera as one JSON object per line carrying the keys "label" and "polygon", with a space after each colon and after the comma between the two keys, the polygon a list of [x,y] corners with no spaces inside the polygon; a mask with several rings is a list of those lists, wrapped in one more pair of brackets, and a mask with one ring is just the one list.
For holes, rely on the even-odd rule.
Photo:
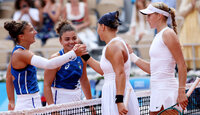
{"label": "white skirt of the smiling player facing the camera", "polygon": [[54,104],[63,104],[81,100],[81,89],[51,88]]}

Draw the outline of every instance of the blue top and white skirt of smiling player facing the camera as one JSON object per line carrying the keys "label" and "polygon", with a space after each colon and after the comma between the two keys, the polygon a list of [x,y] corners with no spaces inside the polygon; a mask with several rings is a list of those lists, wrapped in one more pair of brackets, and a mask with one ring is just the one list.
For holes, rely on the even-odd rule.
{"label": "blue top and white skirt of smiling player facing the camera", "polygon": [[[63,55],[64,50],[60,50],[59,53]],[[55,104],[81,100],[79,79],[82,73],[83,62],[79,56],[61,66],[52,83],[52,93]]]}

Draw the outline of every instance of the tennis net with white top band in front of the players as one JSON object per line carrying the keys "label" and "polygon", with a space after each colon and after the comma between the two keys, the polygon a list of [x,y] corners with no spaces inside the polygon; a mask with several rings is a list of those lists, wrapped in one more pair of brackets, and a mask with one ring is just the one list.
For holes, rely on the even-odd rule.
{"label": "tennis net with white top band in front of the players", "polygon": [[[191,84],[187,84],[188,90]],[[149,115],[150,91],[137,91],[140,114]],[[189,97],[184,115],[200,115],[200,84]],[[83,100],[66,104],[50,105],[42,108],[0,112],[0,115],[101,115],[101,98]]]}

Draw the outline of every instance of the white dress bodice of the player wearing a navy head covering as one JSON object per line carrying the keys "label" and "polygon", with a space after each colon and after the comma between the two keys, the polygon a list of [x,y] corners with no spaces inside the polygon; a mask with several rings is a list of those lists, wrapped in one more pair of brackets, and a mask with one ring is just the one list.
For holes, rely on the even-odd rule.
{"label": "white dress bodice of the player wearing a navy head covering", "polygon": [[[108,46],[111,42],[113,42],[113,41],[115,41],[115,40],[121,41],[121,42],[124,44],[124,46],[125,46],[125,48],[126,48],[126,50],[127,50],[127,52],[128,52],[128,48],[126,47],[126,43],[125,43],[125,42],[122,40],[122,38],[120,38],[120,37],[115,37],[115,38],[113,38],[113,39],[104,47],[103,52],[102,52],[102,57],[101,57],[101,60],[100,60],[100,67],[101,67],[101,69],[103,70],[103,73],[104,73],[103,76],[104,76],[105,80],[106,80],[107,77],[112,77],[113,79],[115,79],[115,72],[114,72],[114,70],[113,70],[112,64],[111,64],[110,61],[107,60],[106,57],[105,57],[105,51],[106,51],[107,46]],[[127,60],[127,61],[125,62],[125,64],[124,64],[124,71],[125,71],[125,74],[126,74],[126,77],[127,77],[127,78],[129,78],[129,75],[130,75],[130,67],[131,67],[131,61],[130,61],[130,55],[128,54],[128,60]]]}

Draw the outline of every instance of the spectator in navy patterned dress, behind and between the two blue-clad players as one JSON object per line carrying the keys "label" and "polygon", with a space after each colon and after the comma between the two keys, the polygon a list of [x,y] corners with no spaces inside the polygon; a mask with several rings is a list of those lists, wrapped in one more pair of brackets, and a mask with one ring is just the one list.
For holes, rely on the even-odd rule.
{"label": "spectator in navy patterned dress, behind and between the two blue-clad players", "polygon": [[61,14],[61,5],[55,0],[36,0],[35,7],[39,9],[40,28],[37,38],[41,39],[42,46],[49,38],[58,37],[54,25]]}

